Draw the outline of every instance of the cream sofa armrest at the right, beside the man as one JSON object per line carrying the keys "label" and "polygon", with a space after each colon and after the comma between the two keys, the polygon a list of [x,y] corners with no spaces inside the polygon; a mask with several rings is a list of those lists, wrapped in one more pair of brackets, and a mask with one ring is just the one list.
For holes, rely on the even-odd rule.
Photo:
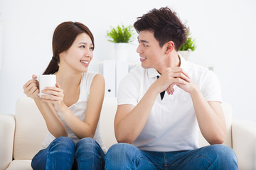
{"label": "cream sofa armrest at the right, beside the man", "polygon": [[239,169],[256,169],[256,123],[233,120],[232,142]]}

